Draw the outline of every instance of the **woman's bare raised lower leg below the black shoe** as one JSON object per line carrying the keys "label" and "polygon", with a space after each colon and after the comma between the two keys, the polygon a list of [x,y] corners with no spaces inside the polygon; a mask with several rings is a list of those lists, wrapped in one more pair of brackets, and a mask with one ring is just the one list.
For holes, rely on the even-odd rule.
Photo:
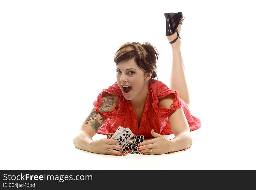
{"label": "woman's bare raised lower leg below the black shoe", "polygon": [[[178,26],[180,34],[181,25]],[[177,37],[177,32],[168,36],[169,41],[173,41]],[[180,36],[181,37],[181,36]],[[182,37],[181,37],[182,38]],[[186,83],[186,71],[181,56],[181,42],[178,38],[175,43],[171,44],[173,49],[173,64],[170,77],[170,89],[178,92],[178,96],[190,106],[189,90]]]}

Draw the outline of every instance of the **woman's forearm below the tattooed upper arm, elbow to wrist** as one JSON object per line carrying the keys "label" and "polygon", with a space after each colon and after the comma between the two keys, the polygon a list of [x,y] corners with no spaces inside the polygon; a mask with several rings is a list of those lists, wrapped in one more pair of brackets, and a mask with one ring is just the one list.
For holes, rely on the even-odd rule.
{"label": "woman's forearm below the tattooed upper arm, elbow to wrist", "polygon": [[91,152],[90,143],[92,141],[93,139],[88,135],[88,133],[80,131],[79,135],[74,138],[73,143],[76,148]]}

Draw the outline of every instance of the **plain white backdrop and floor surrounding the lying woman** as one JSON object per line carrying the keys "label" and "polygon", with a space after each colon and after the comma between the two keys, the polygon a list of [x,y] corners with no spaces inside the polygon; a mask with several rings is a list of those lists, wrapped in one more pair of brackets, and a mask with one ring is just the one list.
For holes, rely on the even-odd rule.
{"label": "plain white backdrop and floor surrounding the lying woman", "polygon": [[[251,2],[1,1],[0,169],[256,169]],[[191,148],[125,157],[76,149],[93,101],[116,81],[122,44],[152,43],[169,86],[164,13],[180,11],[190,111],[202,121]]]}

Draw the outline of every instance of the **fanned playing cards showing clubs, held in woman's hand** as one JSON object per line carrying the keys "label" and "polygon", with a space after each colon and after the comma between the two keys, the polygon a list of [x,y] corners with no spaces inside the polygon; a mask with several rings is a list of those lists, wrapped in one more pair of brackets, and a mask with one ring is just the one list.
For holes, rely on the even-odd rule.
{"label": "fanned playing cards showing clubs, held in woman's hand", "polygon": [[129,127],[123,128],[119,126],[118,129],[113,134],[113,136],[111,137],[111,139],[118,140],[119,142],[115,145],[124,148],[128,144],[131,137],[133,137],[133,135],[134,134],[131,132]]}

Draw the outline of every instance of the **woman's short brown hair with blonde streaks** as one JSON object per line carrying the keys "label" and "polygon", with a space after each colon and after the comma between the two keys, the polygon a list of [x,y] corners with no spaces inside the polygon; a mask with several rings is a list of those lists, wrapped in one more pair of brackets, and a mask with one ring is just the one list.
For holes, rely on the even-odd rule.
{"label": "woman's short brown hair with blonde streaks", "polygon": [[[120,61],[134,58],[136,64],[146,73],[152,72],[150,80],[157,78],[157,60],[159,54],[157,49],[148,42],[127,42],[118,48],[115,53],[114,62],[117,65]],[[158,78],[157,78],[158,79]]]}

